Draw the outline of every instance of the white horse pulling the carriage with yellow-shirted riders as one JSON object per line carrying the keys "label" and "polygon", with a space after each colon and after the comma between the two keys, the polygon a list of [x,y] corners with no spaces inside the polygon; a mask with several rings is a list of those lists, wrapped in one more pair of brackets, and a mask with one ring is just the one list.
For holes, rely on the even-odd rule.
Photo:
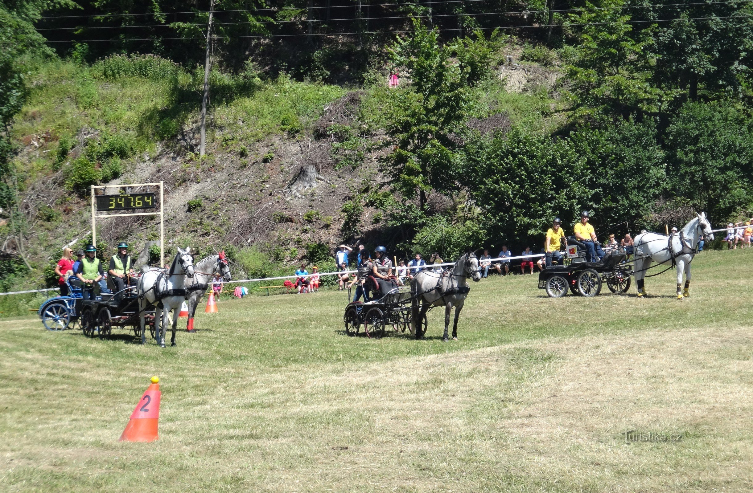
{"label": "white horse pulling the carriage with yellow-shirted riders", "polygon": [[[691,261],[698,251],[700,233],[706,236],[707,241],[714,240],[711,224],[706,219],[706,214],[701,212],[697,218],[691,219],[678,233],[672,235],[660,235],[659,233],[641,233],[633,242],[635,247],[636,261],[633,271],[636,275],[638,297],[646,294],[643,278],[651,266],[651,262],[660,265],[671,266],[672,259],[677,263],[677,299],[690,296],[691,287]],[[682,290],[682,274],[685,274],[685,288]]]}

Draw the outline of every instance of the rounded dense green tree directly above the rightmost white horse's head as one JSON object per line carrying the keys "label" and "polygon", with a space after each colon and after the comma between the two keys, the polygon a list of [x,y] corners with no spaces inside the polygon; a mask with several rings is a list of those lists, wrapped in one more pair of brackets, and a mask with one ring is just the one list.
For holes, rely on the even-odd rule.
{"label": "rounded dense green tree directly above the rightmost white horse's head", "polygon": [[714,224],[753,201],[753,120],[729,102],[685,104],[665,135],[672,191]]}

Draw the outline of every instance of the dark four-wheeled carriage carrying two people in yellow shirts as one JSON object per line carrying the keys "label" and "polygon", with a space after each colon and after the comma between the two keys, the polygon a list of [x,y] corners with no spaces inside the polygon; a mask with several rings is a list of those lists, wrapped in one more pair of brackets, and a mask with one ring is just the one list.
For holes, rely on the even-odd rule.
{"label": "dark four-wheeled carriage carrying two people in yellow shirts", "polygon": [[608,251],[599,262],[586,262],[582,252],[571,247],[569,265],[552,265],[542,270],[538,275],[538,288],[547,291],[553,298],[563,297],[568,290],[572,294],[593,297],[602,291],[602,283],[606,283],[609,291],[624,294],[630,289],[630,275],[633,270],[625,265],[626,251],[615,248]]}

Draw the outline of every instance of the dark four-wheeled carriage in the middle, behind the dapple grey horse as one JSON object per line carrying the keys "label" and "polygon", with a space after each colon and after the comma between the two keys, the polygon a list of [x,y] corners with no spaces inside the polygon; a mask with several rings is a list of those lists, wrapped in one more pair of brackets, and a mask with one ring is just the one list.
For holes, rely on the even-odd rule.
{"label": "dark four-wheeled carriage in the middle, behind the dapple grey horse", "polygon": [[[357,336],[361,329],[370,339],[383,337],[386,329],[405,332],[410,327],[410,288],[394,288],[382,295],[372,292],[372,300],[366,303],[348,303],[343,315],[345,332]],[[422,321],[422,335],[426,331],[426,318]]]}

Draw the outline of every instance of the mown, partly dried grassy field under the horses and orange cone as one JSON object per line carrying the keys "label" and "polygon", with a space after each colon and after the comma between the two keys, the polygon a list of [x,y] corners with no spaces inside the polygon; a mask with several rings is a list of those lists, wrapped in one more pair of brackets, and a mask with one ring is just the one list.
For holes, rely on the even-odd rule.
{"label": "mown, partly dried grassy field under the horses and orange cone", "polygon": [[[682,301],[492,277],[447,343],[439,310],[349,338],[337,291],[221,300],[166,349],[3,319],[0,490],[751,491],[751,259],[704,252]],[[118,443],[153,374],[160,440]]]}

